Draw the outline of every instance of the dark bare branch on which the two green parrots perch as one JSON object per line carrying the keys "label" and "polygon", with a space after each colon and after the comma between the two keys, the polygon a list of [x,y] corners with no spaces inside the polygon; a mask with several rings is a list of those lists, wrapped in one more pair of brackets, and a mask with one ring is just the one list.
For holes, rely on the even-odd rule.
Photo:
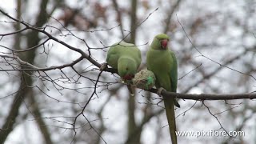
{"label": "dark bare branch on which the two green parrots perch", "polygon": [[[35,27],[35,26],[30,26],[26,22],[23,22],[23,21],[20,21],[16,18],[11,17],[9,14],[5,13],[1,9],[0,9],[0,12],[2,14],[5,14],[8,18],[14,20],[15,22],[20,22],[22,25],[26,26],[26,29],[36,30],[38,32],[46,34],[49,39],[52,39],[55,42],[58,42],[58,43],[62,44],[63,46],[66,46],[70,50],[74,50],[74,51],[77,51],[79,54],[82,54],[82,56],[80,58],[78,58],[77,60],[75,60],[74,62],[71,62],[69,64],[62,65],[62,66],[52,66],[52,67],[49,67],[49,68],[42,68],[42,69],[38,68],[36,66],[30,65],[27,62],[22,61],[22,59],[20,59],[18,57],[14,57],[14,56],[11,57],[11,56],[7,56],[7,55],[1,55],[1,57],[5,57],[5,58],[14,58],[14,59],[18,60],[18,62],[21,62],[21,64],[26,64],[26,66],[30,66],[32,68],[32,69],[21,69],[21,70],[42,70],[42,71],[46,71],[46,70],[62,69],[63,67],[66,67],[66,66],[74,66],[75,63],[82,61],[83,58],[86,58],[89,62],[94,64],[94,66],[97,66],[97,67],[102,66],[100,63],[98,63],[93,58],[91,58],[89,54],[86,54],[81,49],[70,46],[66,42],[62,42],[58,38],[55,38],[51,34],[47,33],[44,29],[38,28],[38,27]],[[25,30],[25,29],[22,29],[22,30]],[[241,55],[239,55],[238,57],[240,57],[240,56]],[[237,59],[237,58],[232,58],[232,60],[233,59]],[[230,61],[232,61],[232,60],[230,60]],[[226,64],[230,63],[230,61],[226,62]],[[1,71],[3,71],[3,70],[1,70]],[[114,69],[111,69],[111,68],[106,68],[104,71],[108,71],[110,73],[117,73],[117,70],[114,70]],[[153,92],[153,93],[156,93],[157,90],[152,89],[152,90],[149,90],[149,91]],[[188,90],[185,90],[185,92],[187,92],[187,91]],[[177,94],[175,94],[175,93],[163,91],[162,94],[166,95],[166,96],[176,97],[176,98],[193,99],[193,100],[228,100],[228,99],[242,99],[242,98],[254,99],[254,98],[256,98],[256,94],[254,94],[254,93],[250,93],[250,94],[178,94],[177,93]]]}

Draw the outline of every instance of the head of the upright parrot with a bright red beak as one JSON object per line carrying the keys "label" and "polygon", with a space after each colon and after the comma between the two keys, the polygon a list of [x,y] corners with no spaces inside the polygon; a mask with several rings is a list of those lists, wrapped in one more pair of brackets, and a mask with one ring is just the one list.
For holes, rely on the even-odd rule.
{"label": "head of the upright parrot with a bright red beak", "polygon": [[154,37],[151,46],[156,50],[166,50],[169,42],[169,36],[166,34],[158,34]]}

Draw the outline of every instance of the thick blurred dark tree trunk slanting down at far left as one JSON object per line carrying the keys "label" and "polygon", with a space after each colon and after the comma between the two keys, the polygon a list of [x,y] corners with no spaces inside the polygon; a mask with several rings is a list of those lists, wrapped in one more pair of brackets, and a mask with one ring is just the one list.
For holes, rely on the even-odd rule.
{"label": "thick blurred dark tree trunk slanting down at far left", "polygon": [[[48,0],[41,1],[41,4],[40,4],[41,9],[40,9],[40,13],[38,14],[38,18],[37,18],[37,22],[36,22],[37,26],[43,26],[47,21],[47,17],[46,17],[46,13],[45,13],[47,4],[48,4]],[[0,10],[0,11],[2,12],[2,14],[6,15],[7,17],[9,17],[13,20],[16,19],[16,18],[10,17],[10,15],[8,15],[6,13],[3,13],[2,10]],[[20,22],[20,21],[15,21],[15,22],[22,23],[23,25],[26,24],[26,22]],[[25,26],[28,28],[28,24],[26,24],[26,25]],[[36,30],[36,31],[31,31],[30,33],[27,34],[26,40],[27,40],[28,46],[32,47],[32,46],[38,45],[38,43],[40,42],[40,39],[38,38],[39,32],[40,31]],[[14,45],[14,46],[18,46],[18,44]],[[16,47],[16,49],[17,49],[17,47]],[[26,53],[26,55],[23,55],[23,56],[24,56],[24,59],[26,59],[25,60],[26,62],[32,63],[32,62],[34,62],[34,58],[35,58],[35,50],[30,50]],[[6,117],[6,120],[2,126],[4,129],[0,131],[0,143],[4,143],[6,141],[6,138],[10,134],[10,132],[14,129],[14,126],[15,126],[14,124],[17,121],[17,117],[19,114],[20,107],[22,106],[22,102],[24,101],[25,98],[27,98],[27,95],[32,92],[31,89],[28,88],[28,86],[30,86],[31,84],[32,84],[32,79],[30,78],[30,76],[28,76],[22,72],[19,91],[14,96],[13,103],[10,107],[10,111],[9,111],[9,113]],[[46,142],[52,143],[50,140],[50,134],[48,134],[48,135],[49,135],[49,137],[47,138],[48,140]]]}

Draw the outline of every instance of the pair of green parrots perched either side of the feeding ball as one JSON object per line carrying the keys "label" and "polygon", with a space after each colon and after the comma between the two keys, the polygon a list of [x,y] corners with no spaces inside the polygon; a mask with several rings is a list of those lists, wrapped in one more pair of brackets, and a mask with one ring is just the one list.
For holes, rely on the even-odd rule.
{"label": "pair of green parrots perched either side of the feeding ball", "polygon": [[[152,71],[156,77],[155,86],[158,88],[158,95],[162,90],[176,92],[178,81],[178,66],[175,54],[169,50],[170,38],[166,34],[158,34],[150,45],[146,54],[147,69]],[[119,42],[115,43],[108,50],[106,63],[118,70],[118,75],[125,82],[130,82],[137,73],[138,66],[142,61],[141,52],[134,44]],[[105,66],[103,66],[105,67]],[[174,106],[178,106],[175,98],[163,96],[166,108],[166,117],[169,124],[170,138],[173,144],[177,144],[176,123]]]}

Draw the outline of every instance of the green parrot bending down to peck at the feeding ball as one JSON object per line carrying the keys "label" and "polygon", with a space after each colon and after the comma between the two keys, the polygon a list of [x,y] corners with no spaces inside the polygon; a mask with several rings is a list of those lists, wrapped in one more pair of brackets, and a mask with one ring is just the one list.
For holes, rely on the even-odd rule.
{"label": "green parrot bending down to peck at the feeding ball", "polygon": [[118,75],[128,83],[128,90],[131,94],[134,94],[130,84],[141,62],[141,51],[137,46],[131,43],[118,42],[110,46],[106,56],[106,63],[102,65],[101,70],[106,67],[106,64],[118,70]]}

